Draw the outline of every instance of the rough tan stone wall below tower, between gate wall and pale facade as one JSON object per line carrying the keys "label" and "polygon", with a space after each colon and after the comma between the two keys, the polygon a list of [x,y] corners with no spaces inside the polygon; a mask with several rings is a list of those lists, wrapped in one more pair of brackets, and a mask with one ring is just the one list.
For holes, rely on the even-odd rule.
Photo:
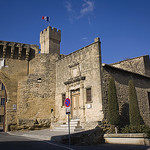
{"label": "rough tan stone wall below tower, between gate wall and pale facade", "polygon": [[37,54],[30,61],[29,75],[18,85],[18,125],[48,127],[55,105],[56,54]]}

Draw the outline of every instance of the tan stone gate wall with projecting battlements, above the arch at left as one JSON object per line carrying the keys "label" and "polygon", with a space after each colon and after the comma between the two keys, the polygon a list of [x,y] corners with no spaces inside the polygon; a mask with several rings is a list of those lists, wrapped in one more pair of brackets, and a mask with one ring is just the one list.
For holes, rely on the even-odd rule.
{"label": "tan stone gate wall with projecting battlements, above the arch at left", "polygon": [[5,131],[17,124],[18,82],[29,73],[29,61],[38,53],[37,45],[0,41],[0,81],[7,94]]}

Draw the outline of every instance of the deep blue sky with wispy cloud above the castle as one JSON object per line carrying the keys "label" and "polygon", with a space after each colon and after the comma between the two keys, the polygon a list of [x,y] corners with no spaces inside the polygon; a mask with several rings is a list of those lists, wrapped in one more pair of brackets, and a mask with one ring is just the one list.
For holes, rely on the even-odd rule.
{"label": "deep blue sky with wispy cloud above the castle", "polygon": [[103,63],[150,54],[150,0],[0,0],[0,40],[39,45],[50,25],[61,30],[61,53],[100,37]]}

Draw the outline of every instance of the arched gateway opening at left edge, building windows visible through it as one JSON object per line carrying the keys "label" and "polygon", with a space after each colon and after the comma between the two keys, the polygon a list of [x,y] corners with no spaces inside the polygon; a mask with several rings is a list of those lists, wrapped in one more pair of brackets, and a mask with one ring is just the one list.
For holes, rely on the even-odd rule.
{"label": "arched gateway opening at left edge, building windows visible through it", "polygon": [[6,89],[4,84],[0,81],[0,131],[5,131],[6,100]]}

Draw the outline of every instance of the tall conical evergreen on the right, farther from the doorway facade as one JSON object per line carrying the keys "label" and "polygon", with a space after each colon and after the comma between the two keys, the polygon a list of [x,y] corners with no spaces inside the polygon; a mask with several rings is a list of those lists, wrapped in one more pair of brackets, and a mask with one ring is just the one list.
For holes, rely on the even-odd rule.
{"label": "tall conical evergreen on the right, farther from the doorway facade", "polygon": [[129,119],[131,126],[138,126],[141,123],[141,116],[138,107],[135,86],[132,80],[129,81]]}

